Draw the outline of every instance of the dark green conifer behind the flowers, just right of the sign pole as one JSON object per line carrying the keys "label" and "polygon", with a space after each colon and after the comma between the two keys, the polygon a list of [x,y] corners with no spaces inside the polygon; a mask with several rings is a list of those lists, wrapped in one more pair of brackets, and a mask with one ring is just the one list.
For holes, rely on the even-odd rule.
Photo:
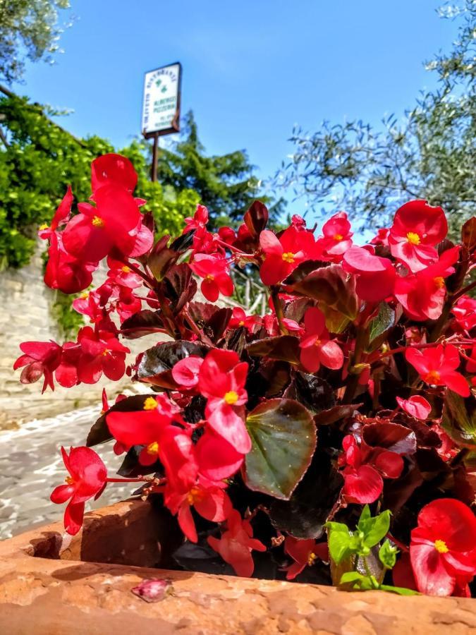
{"label": "dark green conifer behind the flowers, just right of the sign pole", "polygon": [[[189,188],[199,193],[212,222],[220,226],[243,217],[256,198],[270,202],[267,197],[259,197],[260,181],[253,176],[253,169],[244,150],[205,155],[193,112],[188,111],[181,139],[171,150],[159,151],[157,179],[176,190]],[[275,218],[282,210],[283,200],[270,205]]]}

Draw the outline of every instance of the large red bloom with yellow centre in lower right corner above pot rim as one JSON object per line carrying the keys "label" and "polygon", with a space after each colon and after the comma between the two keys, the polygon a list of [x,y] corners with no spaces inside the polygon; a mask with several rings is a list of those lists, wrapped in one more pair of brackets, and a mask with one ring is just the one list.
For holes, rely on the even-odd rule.
{"label": "large red bloom with yellow centre in lower right corner above pot rim", "polygon": [[476,574],[476,518],[453,498],[425,505],[411,533],[410,560],[417,589],[451,595]]}

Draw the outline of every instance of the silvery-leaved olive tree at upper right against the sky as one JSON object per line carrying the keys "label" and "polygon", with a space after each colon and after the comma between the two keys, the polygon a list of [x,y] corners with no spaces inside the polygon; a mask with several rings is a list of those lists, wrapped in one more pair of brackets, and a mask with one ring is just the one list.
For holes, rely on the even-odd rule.
{"label": "silvery-leaved olive tree at upper right against the sky", "polygon": [[452,227],[475,213],[476,1],[439,13],[460,20],[458,41],[427,63],[437,90],[422,95],[403,123],[391,116],[375,130],[361,120],[326,121],[315,133],[293,132],[283,184],[314,210],[332,202],[365,226],[385,222],[409,198],[444,207]]}

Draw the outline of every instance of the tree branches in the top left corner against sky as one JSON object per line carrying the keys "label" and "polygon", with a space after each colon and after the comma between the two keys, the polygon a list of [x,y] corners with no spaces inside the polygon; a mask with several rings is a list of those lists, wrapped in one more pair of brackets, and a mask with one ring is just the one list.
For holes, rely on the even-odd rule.
{"label": "tree branches in the top left corner against sky", "polygon": [[69,0],[0,0],[0,77],[21,78],[25,59],[52,61],[63,28],[59,11]]}

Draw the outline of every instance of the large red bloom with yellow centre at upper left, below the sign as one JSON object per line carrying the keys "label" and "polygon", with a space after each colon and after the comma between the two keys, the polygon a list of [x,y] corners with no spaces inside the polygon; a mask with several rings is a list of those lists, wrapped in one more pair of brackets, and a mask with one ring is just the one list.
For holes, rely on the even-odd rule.
{"label": "large red bloom with yellow centre at upper left, below the sign", "polygon": [[116,248],[129,255],[135,246],[141,214],[133,196],[123,188],[105,185],[94,193],[96,207],[78,205],[63,231],[63,245],[71,255],[86,262],[99,262]]}

